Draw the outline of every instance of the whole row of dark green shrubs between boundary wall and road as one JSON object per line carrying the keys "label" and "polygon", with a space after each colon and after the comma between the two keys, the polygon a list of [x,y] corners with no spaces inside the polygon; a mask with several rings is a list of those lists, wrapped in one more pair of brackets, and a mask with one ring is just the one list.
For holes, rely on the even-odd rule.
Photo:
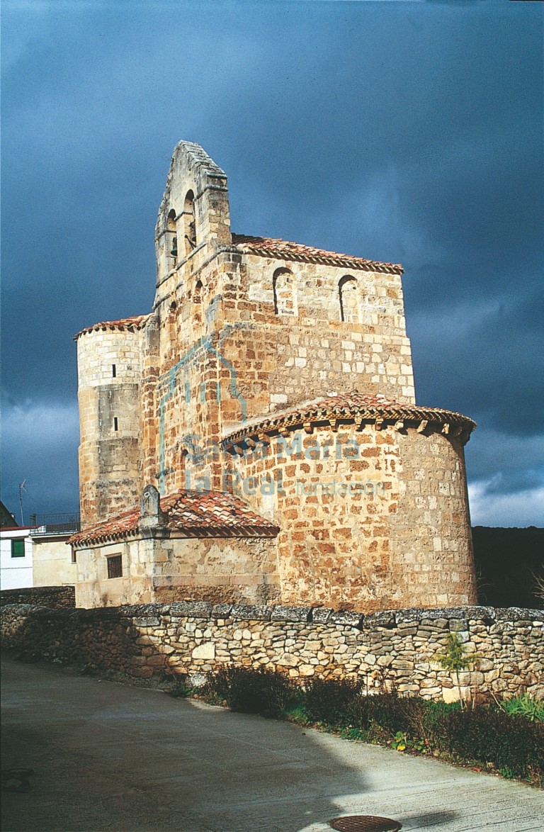
{"label": "whole row of dark green shrubs between boundary wall and road", "polygon": [[[190,693],[183,683],[174,696]],[[305,688],[287,676],[226,666],[210,678],[208,701],[231,711],[319,722],[349,739],[389,743],[397,750],[438,750],[465,761],[490,763],[505,777],[542,782],[542,703],[530,696],[462,710],[459,702],[434,702],[397,693],[365,695],[356,679],[314,679]]]}

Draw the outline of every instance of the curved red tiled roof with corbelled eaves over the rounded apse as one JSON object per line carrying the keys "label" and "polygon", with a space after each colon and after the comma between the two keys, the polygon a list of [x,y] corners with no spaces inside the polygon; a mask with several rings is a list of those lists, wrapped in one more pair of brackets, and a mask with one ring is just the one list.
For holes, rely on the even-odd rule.
{"label": "curved red tiled roof with corbelled eaves over the rounded apse", "polygon": [[301,425],[328,422],[334,427],[338,422],[383,421],[423,422],[451,424],[462,428],[468,434],[476,427],[472,419],[442,408],[426,408],[418,404],[395,402],[380,394],[363,394],[354,390],[338,396],[329,396],[314,402],[305,402],[298,407],[261,418],[245,425],[225,438],[225,445],[231,447],[244,438],[260,437],[263,434],[278,433],[281,428],[296,428]]}

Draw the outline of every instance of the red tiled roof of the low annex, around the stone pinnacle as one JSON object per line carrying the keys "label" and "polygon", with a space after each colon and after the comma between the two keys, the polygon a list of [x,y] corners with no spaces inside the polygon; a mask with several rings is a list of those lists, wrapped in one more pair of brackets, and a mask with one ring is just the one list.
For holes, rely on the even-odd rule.
{"label": "red tiled roof of the low annex, around the stone pinnacle", "polygon": [[[279,528],[255,513],[243,500],[220,491],[182,489],[161,498],[164,524],[181,537],[275,537]],[[75,547],[136,536],[140,508],[118,514],[106,522],[83,529],[67,541]]]}

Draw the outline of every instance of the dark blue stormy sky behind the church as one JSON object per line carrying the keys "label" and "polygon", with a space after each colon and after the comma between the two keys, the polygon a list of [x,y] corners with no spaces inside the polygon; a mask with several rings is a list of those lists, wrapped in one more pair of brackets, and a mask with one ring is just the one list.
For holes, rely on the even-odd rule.
{"label": "dark blue stormy sky behind the church", "polygon": [[472,521],[544,525],[542,5],[3,0],[3,502],[77,508],[72,335],[151,310],[183,138],[237,233],[403,263]]}

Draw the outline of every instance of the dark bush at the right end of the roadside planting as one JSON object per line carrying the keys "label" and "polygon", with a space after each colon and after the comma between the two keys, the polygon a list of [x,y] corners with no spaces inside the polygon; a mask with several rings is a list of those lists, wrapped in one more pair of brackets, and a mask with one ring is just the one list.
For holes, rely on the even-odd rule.
{"label": "dark bush at the right end of the roadside planting", "polygon": [[466,760],[492,763],[511,776],[542,780],[544,725],[480,706],[443,720],[443,746]]}

